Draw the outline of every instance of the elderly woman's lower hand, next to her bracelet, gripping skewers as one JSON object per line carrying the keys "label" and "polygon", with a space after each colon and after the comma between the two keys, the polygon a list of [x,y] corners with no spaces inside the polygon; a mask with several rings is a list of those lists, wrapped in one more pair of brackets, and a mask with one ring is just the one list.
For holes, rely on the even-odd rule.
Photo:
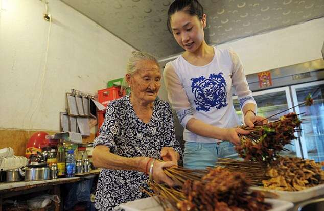
{"label": "elderly woman's lower hand, next to her bracelet, gripping skewers", "polygon": [[155,160],[153,165],[153,180],[157,183],[166,183],[170,187],[174,186],[174,181],[163,172],[163,168],[171,166],[174,166],[174,163],[172,161],[160,162],[158,160]]}

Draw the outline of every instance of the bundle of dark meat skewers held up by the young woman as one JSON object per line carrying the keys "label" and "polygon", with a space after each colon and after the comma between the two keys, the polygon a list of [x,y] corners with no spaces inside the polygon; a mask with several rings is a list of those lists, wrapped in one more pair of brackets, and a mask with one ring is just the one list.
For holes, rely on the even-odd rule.
{"label": "bundle of dark meat skewers held up by the young woman", "polygon": [[[307,106],[313,104],[311,95],[308,95],[305,102],[300,103],[297,106],[303,104]],[[265,118],[265,120],[292,108],[271,115]],[[292,140],[296,139],[294,133],[300,132],[300,124],[303,122],[302,120],[299,120],[299,115],[301,114],[288,113],[281,116],[277,121],[258,125],[258,123],[264,121],[262,120],[254,123],[254,125],[256,125],[254,128],[241,126],[242,129],[250,131],[250,134],[240,135],[241,145],[236,147],[239,156],[244,158],[245,161],[259,161],[266,164],[275,160],[277,156],[279,156],[279,152],[288,151],[288,149],[285,148],[285,145],[291,144]]]}

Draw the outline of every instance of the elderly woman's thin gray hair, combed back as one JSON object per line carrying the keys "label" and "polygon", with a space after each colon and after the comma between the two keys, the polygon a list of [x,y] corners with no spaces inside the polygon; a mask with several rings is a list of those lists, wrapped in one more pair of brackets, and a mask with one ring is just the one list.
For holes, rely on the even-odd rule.
{"label": "elderly woman's thin gray hair, combed back", "polygon": [[[158,65],[158,67],[160,67],[157,59],[154,56],[152,56],[151,54],[146,53],[146,52],[141,52],[141,51],[133,51],[132,55],[130,56],[130,58],[128,59],[128,62],[126,64],[126,73],[129,75],[133,75],[137,71],[136,64],[139,61],[143,61],[143,60],[154,61]],[[126,78],[124,78],[122,86],[123,86],[123,88],[127,89],[128,84],[126,82]]]}

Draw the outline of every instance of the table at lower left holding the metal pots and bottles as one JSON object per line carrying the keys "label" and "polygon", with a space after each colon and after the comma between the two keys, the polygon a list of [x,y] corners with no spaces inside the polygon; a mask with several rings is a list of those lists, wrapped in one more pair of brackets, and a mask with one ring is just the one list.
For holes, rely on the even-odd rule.
{"label": "table at lower left holding the metal pots and bottles", "polygon": [[[3,199],[23,194],[50,190],[51,194],[58,195],[61,198],[60,185],[90,179],[95,175],[98,175],[100,171],[101,169],[95,169],[91,170],[88,173],[78,174],[75,175],[75,177],[70,178],[58,178],[39,181],[2,182],[0,183],[0,211],[2,211]],[[62,201],[63,200],[61,200],[61,204]],[[55,210],[63,210],[63,206],[61,204]]]}

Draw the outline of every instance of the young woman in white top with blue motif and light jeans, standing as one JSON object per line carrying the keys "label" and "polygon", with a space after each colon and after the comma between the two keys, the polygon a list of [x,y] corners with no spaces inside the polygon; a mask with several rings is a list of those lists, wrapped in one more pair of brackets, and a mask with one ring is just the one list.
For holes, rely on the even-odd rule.
{"label": "young woman in white top with blue motif and light jeans, standing", "polygon": [[232,100],[236,89],[244,123],[256,116],[254,101],[238,55],[204,40],[206,14],[197,0],[176,0],[168,10],[168,29],[185,52],[166,64],[164,79],[168,98],[184,127],[183,165],[192,169],[214,166],[218,157],[235,155],[240,125]]}

